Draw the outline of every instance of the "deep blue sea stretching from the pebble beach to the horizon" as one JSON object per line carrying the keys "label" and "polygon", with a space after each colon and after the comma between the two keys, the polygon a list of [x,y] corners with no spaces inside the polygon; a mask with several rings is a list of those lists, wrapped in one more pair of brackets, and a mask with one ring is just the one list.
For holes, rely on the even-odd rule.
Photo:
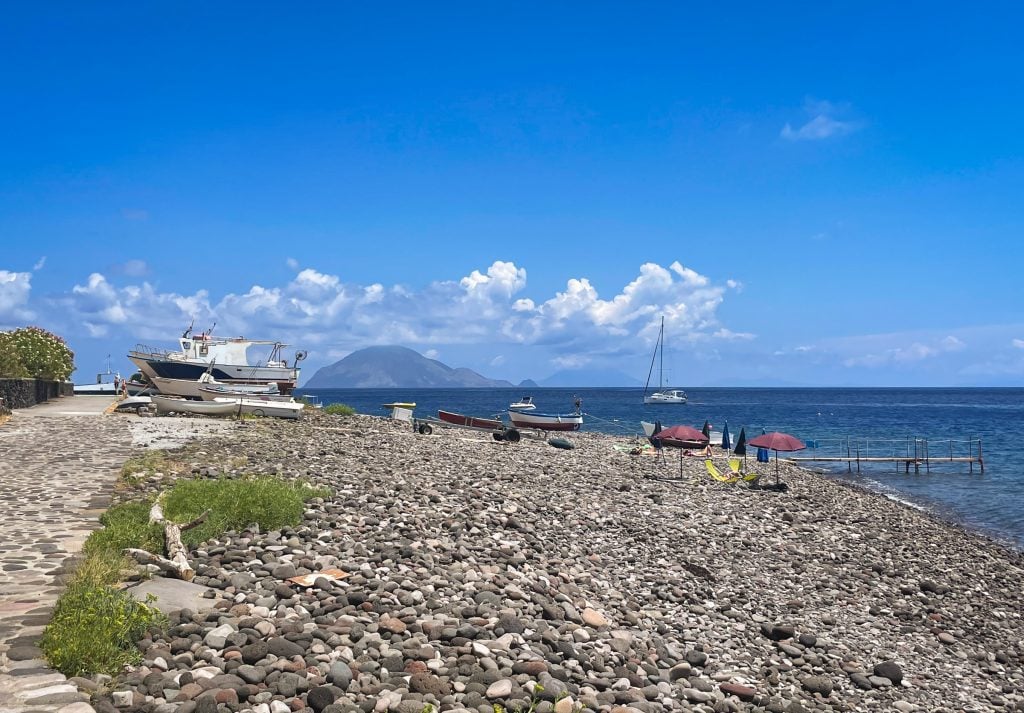
{"label": "deep blue sea stretching from the pebble beach to the horizon", "polygon": [[[300,389],[302,391],[303,389]],[[490,416],[526,393],[522,389],[309,389],[325,404],[343,403],[357,412],[384,415],[388,402],[416,402],[416,414],[435,416],[438,408],[473,416]],[[946,518],[1024,548],[1024,388],[694,388],[685,406],[644,406],[636,388],[534,388],[538,410],[568,412],[572,399],[583,399],[584,429],[607,433],[640,432],[640,421],[660,420],[699,428],[705,420],[715,430],[728,421],[735,443],[740,427],[748,438],[768,431],[792,433],[818,442],[802,454],[840,455],[841,438],[852,438],[851,452],[861,455],[913,455],[912,438],[927,438],[932,459],[950,449],[968,456],[968,438],[980,438],[985,473],[966,463],[941,464],[914,474],[892,463],[861,466],[848,474],[846,464],[818,464],[837,477],[877,488],[926,507]],[[919,451],[924,448],[919,444]],[[972,451],[977,448],[971,446]],[[752,454],[753,455],[753,454]]]}

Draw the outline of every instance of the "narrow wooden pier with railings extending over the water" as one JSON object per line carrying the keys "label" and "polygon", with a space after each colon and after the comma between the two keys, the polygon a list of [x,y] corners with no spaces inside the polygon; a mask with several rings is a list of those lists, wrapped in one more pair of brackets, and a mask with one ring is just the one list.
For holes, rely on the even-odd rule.
{"label": "narrow wooden pier with railings extending over the water", "polygon": [[911,466],[915,473],[920,473],[922,468],[929,473],[933,466],[943,463],[967,463],[971,473],[977,464],[980,471],[985,472],[981,438],[929,441],[911,437],[906,439],[846,437],[810,441],[807,451],[801,451],[799,456],[787,456],[786,460],[795,463],[846,463],[848,472],[853,472],[856,466],[858,473],[861,464],[878,463],[893,463],[897,472],[902,465],[903,472],[906,473],[910,472]]}

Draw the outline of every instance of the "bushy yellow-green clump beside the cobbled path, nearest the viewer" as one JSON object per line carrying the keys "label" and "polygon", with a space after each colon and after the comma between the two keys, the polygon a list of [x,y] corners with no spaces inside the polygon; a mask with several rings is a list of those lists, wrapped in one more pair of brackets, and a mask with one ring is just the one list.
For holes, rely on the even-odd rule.
{"label": "bushy yellow-green clump beside the cobbled path, nearest the viewer", "polygon": [[66,676],[117,675],[141,662],[135,642],[166,619],[151,602],[136,601],[113,585],[129,567],[120,553],[94,551],[72,575],[43,632],[40,647]]}

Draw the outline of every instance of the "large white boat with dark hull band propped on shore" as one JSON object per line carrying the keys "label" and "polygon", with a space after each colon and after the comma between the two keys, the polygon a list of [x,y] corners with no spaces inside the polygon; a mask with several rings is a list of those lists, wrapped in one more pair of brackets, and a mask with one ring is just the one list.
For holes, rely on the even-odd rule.
{"label": "large white boat with dark hull band propped on shore", "polygon": [[[212,330],[211,330],[212,332]],[[215,337],[209,332],[194,335],[189,327],[178,339],[177,351],[137,345],[128,359],[151,381],[157,378],[199,381],[209,373],[214,379],[229,384],[275,384],[281,393],[290,393],[299,380],[298,363],[304,351],[296,351],[292,365],[284,358],[287,344],[279,341]],[[250,363],[249,350],[267,349],[264,359]]]}

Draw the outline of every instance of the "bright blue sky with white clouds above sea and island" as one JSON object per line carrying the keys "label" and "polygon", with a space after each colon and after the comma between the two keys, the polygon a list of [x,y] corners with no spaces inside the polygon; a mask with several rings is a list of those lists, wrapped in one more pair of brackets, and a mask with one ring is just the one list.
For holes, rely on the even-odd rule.
{"label": "bright blue sky with white clouds above sea and island", "polygon": [[0,328],[1024,385],[1013,3],[9,9]]}

